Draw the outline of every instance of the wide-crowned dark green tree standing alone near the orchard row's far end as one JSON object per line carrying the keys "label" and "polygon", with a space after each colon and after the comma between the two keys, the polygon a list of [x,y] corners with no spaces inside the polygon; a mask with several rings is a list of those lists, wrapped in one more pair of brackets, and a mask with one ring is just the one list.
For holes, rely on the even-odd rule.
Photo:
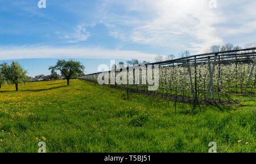
{"label": "wide-crowned dark green tree standing alone near the orchard row's far end", "polygon": [[67,79],[67,85],[72,77],[77,77],[84,72],[85,67],[80,63],[70,59],[69,61],[58,60],[55,66],[49,66],[49,70],[59,70],[65,79]]}

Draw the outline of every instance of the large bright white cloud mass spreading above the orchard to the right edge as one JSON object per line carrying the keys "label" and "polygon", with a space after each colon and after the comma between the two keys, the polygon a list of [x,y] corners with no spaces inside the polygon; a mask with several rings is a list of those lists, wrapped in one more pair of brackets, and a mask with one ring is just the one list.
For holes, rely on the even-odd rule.
{"label": "large bright white cloud mass spreading above the orchard to the right edge", "polygon": [[[255,32],[255,5],[250,0],[108,0],[99,17],[115,38],[201,53],[224,44],[225,36]],[[111,10],[117,7],[121,13]]]}

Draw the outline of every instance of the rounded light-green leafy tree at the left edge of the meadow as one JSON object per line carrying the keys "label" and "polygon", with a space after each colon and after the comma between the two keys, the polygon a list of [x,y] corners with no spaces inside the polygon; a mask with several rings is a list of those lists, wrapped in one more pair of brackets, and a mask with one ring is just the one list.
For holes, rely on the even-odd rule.
{"label": "rounded light-green leafy tree at the left edge of the meadow", "polygon": [[18,84],[24,82],[27,71],[23,69],[18,62],[12,62],[9,66],[7,63],[2,64],[2,72],[5,79],[10,83],[15,84],[16,91],[18,91]]}

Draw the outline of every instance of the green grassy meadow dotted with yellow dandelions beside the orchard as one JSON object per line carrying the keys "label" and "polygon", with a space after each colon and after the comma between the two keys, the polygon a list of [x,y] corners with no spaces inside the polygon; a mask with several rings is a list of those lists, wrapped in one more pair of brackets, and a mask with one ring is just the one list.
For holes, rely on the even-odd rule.
{"label": "green grassy meadow dotted with yellow dandelions beside the orchard", "polygon": [[0,152],[256,152],[256,96],[193,106],[81,80],[3,85]]}

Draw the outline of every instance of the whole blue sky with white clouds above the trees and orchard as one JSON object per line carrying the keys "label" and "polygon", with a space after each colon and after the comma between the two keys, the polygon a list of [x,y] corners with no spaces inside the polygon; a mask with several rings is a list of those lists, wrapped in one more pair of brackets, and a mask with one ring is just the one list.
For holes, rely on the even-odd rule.
{"label": "whole blue sky with white clouds above the trees and orchard", "polygon": [[0,0],[0,63],[18,61],[29,76],[74,58],[86,73],[99,64],[212,45],[256,44],[254,0]]}

